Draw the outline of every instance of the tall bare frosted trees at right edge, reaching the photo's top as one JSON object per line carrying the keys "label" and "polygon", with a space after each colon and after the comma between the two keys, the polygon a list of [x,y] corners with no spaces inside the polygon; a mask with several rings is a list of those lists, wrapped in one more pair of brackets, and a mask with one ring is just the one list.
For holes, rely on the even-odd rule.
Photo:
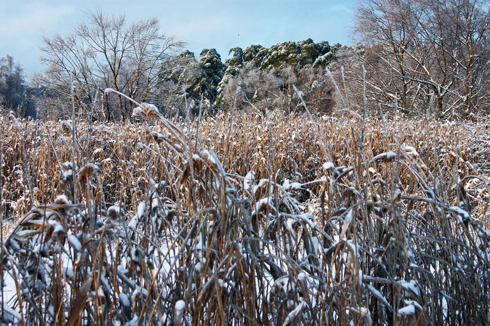
{"label": "tall bare frosted trees at right edge, reaching the photo's top", "polygon": [[482,0],[367,0],[355,36],[374,98],[467,117],[488,99],[489,6]]}

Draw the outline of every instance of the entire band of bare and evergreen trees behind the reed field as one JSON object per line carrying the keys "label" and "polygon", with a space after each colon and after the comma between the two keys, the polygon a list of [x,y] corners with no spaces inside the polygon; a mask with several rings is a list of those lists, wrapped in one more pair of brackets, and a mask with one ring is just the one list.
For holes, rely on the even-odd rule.
{"label": "entire band of bare and evergreen trees behind the reed field", "polygon": [[[40,117],[57,119],[71,116],[73,99],[77,115],[130,118],[134,104],[104,91],[110,87],[167,115],[205,116],[233,105],[289,113],[302,108],[295,86],[310,109],[323,113],[345,106],[442,118],[488,113],[486,1],[365,0],[354,10],[352,34],[359,43],[353,46],[306,39],[234,47],[224,63],[216,49],[199,56],[185,50],[185,43],[159,32],[156,19],[129,23],[124,16],[92,12],[72,33],[44,38],[46,68],[29,82],[35,92],[27,92],[24,82],[5,88],[1,78],[1,105],[30,103]],[[19,80],[19,69],[6,69],[6,75]],[[3,61],[1,71],[4,76]],[[24,95],[12,95],[16,89]]]}

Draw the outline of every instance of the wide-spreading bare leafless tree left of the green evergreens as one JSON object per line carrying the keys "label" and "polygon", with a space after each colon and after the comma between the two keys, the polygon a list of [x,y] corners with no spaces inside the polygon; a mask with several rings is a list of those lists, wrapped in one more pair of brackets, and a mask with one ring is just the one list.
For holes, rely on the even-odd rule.
{"label": "wide-spreading bare leafless tree left of the green evergreens", "polygon": [[107,120],[126,119],[131,104],[104,89],[112,87],[138,101],[150,99],[160,67],[184,43],[160,34],[154,18],[128,24],[124,15],[108,17],[100,10],[86,16],[88,23],[71,34],[43,39],[41,62],[47,68],[34,82],[66,97],[71,97],[73,85],[75,106],[82,112],[98,93]]}

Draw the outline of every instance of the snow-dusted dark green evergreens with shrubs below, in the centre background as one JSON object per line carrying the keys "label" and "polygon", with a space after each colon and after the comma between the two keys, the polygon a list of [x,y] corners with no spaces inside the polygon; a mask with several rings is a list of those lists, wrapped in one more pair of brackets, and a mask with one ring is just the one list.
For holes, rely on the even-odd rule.
{"label": "snow-dusted dark green evergreens with shrubs below, in the centre background", "polygon": [[229,51],[233,56],[224,64],[216,49],[203,49],[199,61],[194,53],[184,51],[177,58],[185,58],[187,64],[174,69],[166,78],[176,85],[178,98],[191,101],[194,112],[198,111],[195,105],[198,103],[204,114],[230,108],[237,87],[240,87],[236,98],[239,109],[292,112],[298,110],[293,85],[304,89],[306,100],[314,108],[328,110],[332,86],[325,79],[324,71],[335,61],[335,53],[341,47],[340,44],[330,46],[325,41],[314,43],[312,39],[277,43],[269,48],[234,47]]}

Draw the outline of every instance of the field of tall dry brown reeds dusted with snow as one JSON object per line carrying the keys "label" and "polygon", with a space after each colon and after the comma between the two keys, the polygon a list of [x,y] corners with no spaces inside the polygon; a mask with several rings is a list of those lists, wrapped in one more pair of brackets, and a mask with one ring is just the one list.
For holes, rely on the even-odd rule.
{"label": "field of tall dry brown reeds dusted with snow", "polygon": [[0,118],[0,318],[488,324],[486,124],[345,113]]}

